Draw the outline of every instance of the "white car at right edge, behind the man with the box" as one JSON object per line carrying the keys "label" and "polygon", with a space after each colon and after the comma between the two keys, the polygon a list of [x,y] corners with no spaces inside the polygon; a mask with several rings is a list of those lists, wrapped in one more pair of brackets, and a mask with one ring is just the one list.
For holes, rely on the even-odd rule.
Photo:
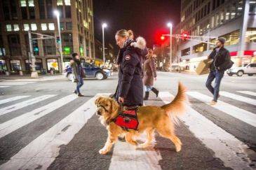
{"label": "white car at right edge, behind the man with the box", "polygon": [[233,76],[236,74],[237,76],[243,76],[243,74],[248,74],[248,76],[253,76],[256,74],[256,63],[255,64],[247,64],[246,66],[232,67],[227,70],[227,74],[229,76]]}

